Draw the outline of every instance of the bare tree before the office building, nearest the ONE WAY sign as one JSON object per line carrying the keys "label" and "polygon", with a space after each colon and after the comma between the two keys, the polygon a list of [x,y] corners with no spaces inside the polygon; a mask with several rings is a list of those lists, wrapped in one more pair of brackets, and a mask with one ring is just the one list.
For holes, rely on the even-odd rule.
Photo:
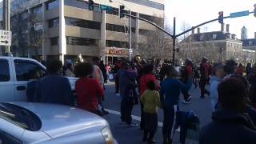
{"label": "bare tree before the office building, nearest the ONE WAY sign", "polygon": [[36,49],[42,46],[42,22],[40,20],[42,6],[29,12],[30,7],[38,5],[41,1],[15,0],[12,2],[10,29],[13,32],[11,50],[14,55],[29,57],[30,50],[35,50],[37,53]]}

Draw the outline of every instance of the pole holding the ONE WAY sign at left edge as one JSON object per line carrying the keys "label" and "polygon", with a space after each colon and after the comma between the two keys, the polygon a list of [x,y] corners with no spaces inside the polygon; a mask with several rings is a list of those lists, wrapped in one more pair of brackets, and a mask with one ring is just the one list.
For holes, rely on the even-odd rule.
{"label": "pole holding the ONE WAY sign at left edge", "polygon": [[[3,0],[3,28],[10,31],[10,0]],[[10,46],[6,46],[6,54],[10,54]]]}

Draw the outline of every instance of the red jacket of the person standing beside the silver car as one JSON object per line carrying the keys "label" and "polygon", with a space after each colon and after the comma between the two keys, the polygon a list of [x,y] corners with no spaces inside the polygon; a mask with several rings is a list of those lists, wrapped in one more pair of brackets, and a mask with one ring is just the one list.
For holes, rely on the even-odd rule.
{"label": "red jacket of the person standing beside the silver car", "polygon": [[78,108],[94,112],[97,110],[98,98],[102,98],[103,90],[94,78],[79,78],[75,82]]}

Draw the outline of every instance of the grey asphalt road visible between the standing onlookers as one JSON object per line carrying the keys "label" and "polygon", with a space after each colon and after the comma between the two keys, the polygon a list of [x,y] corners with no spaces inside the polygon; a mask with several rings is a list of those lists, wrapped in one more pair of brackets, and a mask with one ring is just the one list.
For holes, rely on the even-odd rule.
{"label": "grey asphalt road visible between the standing onlookers", "polygon": [[[192,100],[190,104],[180,103],[180,110],[188,111],[193,110],[195,114],[200,118],[201,126],[206,125],[206,123],[210,122],[210,116],[212,113],[212,109],[210,106],[210,98],[199,98],[200,90],[194,89],[194,87],[190,90],[190,94],[192,96]],[[120,144],[140,144],[142,142],[142,134],[143,131],[139,129],[139,127],[128,127],[126,124],[121,122],[120,119],[120,102],[121,98],[117,97],[114,94],[114,82],[109,82],[106,84],[105,91],[105,102],[103,103],[105,108],[110,111],[110,114],[104,116],[109,123],[114,134],[114,138],[117,139]],[[182,97],[181,97],[182,100]],[[139,124],[140,120],[140,106],[139,104],[134,106],[133,109],[133,122]],[[155,134],[154,139],[157,143],[162,143],[162,126],[161,122],[163,121],[162,110],[158,111],[158,131]],[[174,143],[179,143],[179,132],[177,131],[174,135]],[[191,140],[186,140],[188,144],[196,144],[198,142],[194,142]]]}

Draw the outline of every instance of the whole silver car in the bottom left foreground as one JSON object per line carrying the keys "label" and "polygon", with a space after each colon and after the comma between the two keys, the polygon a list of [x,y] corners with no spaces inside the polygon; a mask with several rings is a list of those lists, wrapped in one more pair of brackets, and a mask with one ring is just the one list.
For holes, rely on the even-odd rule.
{"label": "whole silver car in the bottom left foreground", "polygon": [[106,120],[75,107],[0,102],[0,143],[116,144]]}

